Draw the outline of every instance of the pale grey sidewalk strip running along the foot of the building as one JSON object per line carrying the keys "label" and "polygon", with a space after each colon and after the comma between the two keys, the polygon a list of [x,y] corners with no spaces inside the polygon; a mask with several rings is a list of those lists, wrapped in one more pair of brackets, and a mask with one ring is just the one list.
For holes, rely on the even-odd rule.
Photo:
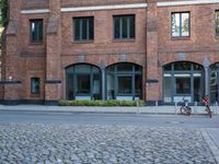
{"label": "pale grey sidewalk strip running along the foot of the building", "polygon": [[[158,114],[177,115],[181,106],[143,106],[143,107],[96,107],[96,106],[44,106],[44,105],[0,105],[4,112],[50,112],[50,113],[122,113],[122,114]],[[212,115],[219,115],[219,108],[210,107]],[[192,106],[192,114],[206,114],[204,106]]]}

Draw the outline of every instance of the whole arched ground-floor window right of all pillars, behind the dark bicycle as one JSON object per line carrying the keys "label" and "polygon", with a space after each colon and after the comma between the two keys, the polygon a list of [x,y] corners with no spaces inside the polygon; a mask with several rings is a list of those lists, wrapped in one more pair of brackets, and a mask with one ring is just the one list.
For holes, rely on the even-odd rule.
{"label": "whole arched ground-floor window right of all pillars, behind the dark bicycle", "polygon": [[192,62],[174,62],[163,67],[163,101],[165,103],[200,102],[204,96],[203,67]]}

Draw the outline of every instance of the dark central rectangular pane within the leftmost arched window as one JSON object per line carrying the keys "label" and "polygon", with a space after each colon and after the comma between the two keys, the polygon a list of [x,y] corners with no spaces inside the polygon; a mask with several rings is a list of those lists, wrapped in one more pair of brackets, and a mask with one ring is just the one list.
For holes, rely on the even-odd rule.
{"label": "dark central rectangular pane within the leftmost arched window", "polygon": [[90,74],[77,75],[77,94],[89,94],[91,91]]}

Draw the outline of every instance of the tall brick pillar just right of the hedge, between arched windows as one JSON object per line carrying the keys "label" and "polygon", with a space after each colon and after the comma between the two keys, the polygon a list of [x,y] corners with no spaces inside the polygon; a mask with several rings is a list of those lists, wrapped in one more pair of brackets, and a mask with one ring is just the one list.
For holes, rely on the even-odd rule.
{"label": "tall brick pillar just right of the hedge, between arched windows", "polygon": [[159,101],[157,0],[148,0],[147,10],[146,101],[152,105]]}

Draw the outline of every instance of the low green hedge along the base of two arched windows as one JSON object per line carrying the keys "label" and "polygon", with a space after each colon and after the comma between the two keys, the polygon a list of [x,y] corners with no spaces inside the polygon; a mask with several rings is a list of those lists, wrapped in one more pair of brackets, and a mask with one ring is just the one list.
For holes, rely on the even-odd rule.
{"label": "low green hedge along the base of two arched windows", "polygon": [[60,106],[145,106],[143,101],[67,101],[60,99]]}

